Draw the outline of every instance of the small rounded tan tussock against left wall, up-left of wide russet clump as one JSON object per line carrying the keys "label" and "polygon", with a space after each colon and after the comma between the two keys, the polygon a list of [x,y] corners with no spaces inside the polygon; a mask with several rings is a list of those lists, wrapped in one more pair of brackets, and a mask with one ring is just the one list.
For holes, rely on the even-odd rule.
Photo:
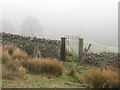
{"label": "small rounded tan tussock against left wall, up-left of wide russet clump", "polygon": [[24,59],[27,59],[27,57],[28,57],[28,55],[24,51],[22,51],[18,48],[13,52],[14,59],[18,58],[19,60],[21,60],[21,59],[24,60]]}

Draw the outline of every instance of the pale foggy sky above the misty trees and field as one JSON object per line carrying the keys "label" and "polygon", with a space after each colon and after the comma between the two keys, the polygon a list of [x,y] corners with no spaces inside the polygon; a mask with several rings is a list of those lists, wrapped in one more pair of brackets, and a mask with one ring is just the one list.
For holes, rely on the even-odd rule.
{"label": "pale foggy sky above the misty trees and field", "polygon": [[21,31],[24,18],[31,15],[39,20],[47,38],[77,35],[95,43],[115,46],[118,1],[2,0],[0,17],[10,22],[17,33]]}

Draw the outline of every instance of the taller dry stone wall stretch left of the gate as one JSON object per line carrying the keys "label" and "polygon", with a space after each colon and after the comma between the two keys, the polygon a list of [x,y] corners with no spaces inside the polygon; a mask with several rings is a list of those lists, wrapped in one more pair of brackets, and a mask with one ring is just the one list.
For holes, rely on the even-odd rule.
{"label": "taller dry stone wall stretch left of the gate", "polygon": [[57,40],[48,40],[45,38],[36,37],[25,37],[22,35],[1,33],[2,34],[2,44],[12,43],[17,47],[24,50],[28,55],[34,54],[34,47],[36,47],[41,52],[42,57],[57,58],[58,49],[60,48],[60,42]]}

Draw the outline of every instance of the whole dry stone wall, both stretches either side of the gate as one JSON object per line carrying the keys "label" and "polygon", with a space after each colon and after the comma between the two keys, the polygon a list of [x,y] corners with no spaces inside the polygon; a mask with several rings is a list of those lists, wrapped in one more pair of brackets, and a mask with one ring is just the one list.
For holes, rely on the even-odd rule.
{"label": "whole dry stone wall, both stretches either side of the gate", "polygon": [[[10,33],[0,33],[0,36],[1,34],[3,45],[13,43],[17,47],[24,50],[28,55],[33,55],[34,47],[36,47],[37,42],[38,50],[40,50],[42,57],[58,58],[60,41],[36,37],[25,37]],[[88,53],[85,57],[85,63],[95,66],[102,66],[103,64],[112,64],[114,66],[117,66],[118,64],[120,65],[120,60],[118,59],[118,53]]]}

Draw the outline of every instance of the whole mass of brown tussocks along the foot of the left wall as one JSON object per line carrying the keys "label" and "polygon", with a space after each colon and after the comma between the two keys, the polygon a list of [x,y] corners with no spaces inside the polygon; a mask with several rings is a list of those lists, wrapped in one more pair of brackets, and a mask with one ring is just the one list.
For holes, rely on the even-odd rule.
{"label": "whole mass of brown tussocks along the foot of the left wall", "polygon": [[[40,51],[37,57],[31,58],[24,51],[13,45],[3,46],[3,63],[12,72],[20,72],[24,76],[24,72],[35,74],[53,74],[60,76],[63,74],[63,65],[56,59],[40,58]],[[7,63],[6,63],[7,62]]]}

